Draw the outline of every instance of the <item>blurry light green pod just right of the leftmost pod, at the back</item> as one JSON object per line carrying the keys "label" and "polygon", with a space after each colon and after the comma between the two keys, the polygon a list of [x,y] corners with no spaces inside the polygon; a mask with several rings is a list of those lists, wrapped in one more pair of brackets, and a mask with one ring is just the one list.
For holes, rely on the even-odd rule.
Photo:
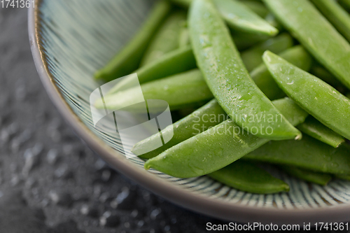
{"label": "blurry light green pod just right of the leftmost pod, at the back", "polygon": [[141,66],[159,59],[167,52],[179,48],[179,35],[183,24],[186,23],[186,12],[177,10],[162,23],[151,43],[148,45],[144,57],[141,60]]}

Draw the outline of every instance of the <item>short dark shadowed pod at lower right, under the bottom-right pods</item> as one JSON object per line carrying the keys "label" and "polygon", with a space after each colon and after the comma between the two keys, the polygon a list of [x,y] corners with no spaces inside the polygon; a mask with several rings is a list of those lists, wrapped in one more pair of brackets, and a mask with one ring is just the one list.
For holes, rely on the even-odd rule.
{"label": "short dark shadowed pod at lower right, under the bottom-right pods", "polygon": [[300,167],[280,165],[279,166],[283,171],[286,171],[290,176],[294,176],[296,178],[300,178],[304,181],[309,181],[311,183],[316,183],[318,185],[327,185],[330,180],[332,180],[332,176],[330,174],[324,174],[316,171],[310,171],[307,169],[301,169]]}

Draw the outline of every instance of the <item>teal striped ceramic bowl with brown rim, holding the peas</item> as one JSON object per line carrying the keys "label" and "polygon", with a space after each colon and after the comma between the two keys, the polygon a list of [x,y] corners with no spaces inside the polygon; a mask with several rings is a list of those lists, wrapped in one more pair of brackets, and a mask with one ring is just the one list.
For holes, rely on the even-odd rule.
{"label": "teal striped ceramic bowl with brown rim, holding the peas", "polygon": [[29,9],[29,40],[41,81],[66,122],[111,167],[145,188],[199,213],[241,223],[303,224],[350,220],[350,182],[326,187],[276,174],[289,193],[255,195],[207,176],[174,178],[145,171],[138,157],[127,159],[120,138],[94,128],[90,94],[101,85],[93,73],[133,34],[151,0],[40,0]]}

